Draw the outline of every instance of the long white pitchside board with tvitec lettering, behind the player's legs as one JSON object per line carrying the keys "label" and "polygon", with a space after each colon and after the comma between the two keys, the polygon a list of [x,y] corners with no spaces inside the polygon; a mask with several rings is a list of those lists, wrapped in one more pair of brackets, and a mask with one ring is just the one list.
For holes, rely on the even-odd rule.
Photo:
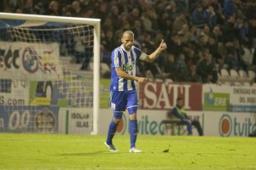
{"label": "long white pitchside board with tvitec lettering, behind the player's legs", "polygon": [[[164,125],[161,123],[166,119],[166,111],[138,111],[138,133],[143,135],[163,135]],[[204,129],[205,136],[241,137],[248,136],[256,130],[256,114],[221,111],[188,111],[187,114],[193,118],[199,118]],[[99,133],[107,134],[108,125],[112,118],[112,111],[101,110],[99,116]],[[118,134],[129,134],[128,113],[123,116],[124,122],[118,127]],[[186,135],[186,134],[183,134]],[[193,128],[193,135],[198,135]]]}

